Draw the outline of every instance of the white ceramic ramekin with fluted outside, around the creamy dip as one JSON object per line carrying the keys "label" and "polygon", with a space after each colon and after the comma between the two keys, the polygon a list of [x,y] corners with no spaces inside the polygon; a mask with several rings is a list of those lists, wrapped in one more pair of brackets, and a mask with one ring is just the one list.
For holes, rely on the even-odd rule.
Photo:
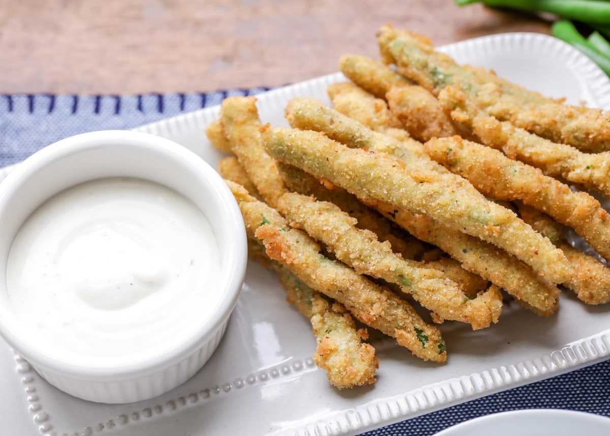
{"label": "white ceramic ramekin with fluted outside, around the creamy dip", "polygon": [[[195,329],[162,352],[140,358],[84,362],[49,351],[24,332],[7,291],[7,259],[22,223],[53,195],[99,178],[124,176],[170,187],[207,218],[220,250],[220,297]],[[152,398],[192,377],[215,351],[242,288],[246,235],[237,203],[222,178],[192,151],[162,137],[99,131],[60,140],[38,151],[0,184],[0,334],[40,376],[62,391],[96,402]],[[206,286],[206,283],[199,283]],[[32,322],[37,320],[32,319]]]}

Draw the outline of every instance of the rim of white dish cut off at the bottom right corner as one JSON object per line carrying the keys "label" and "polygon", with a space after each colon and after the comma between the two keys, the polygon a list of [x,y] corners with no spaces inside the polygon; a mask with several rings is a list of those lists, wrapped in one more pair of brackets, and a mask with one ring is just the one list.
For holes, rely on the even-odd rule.
{"label": "rim of white dish cut off at the bottom right corner", "polygon": [[587,436],[610,434],[610,418],[561,409],[526,409],[492,413],[464,421],[436,436]]}

